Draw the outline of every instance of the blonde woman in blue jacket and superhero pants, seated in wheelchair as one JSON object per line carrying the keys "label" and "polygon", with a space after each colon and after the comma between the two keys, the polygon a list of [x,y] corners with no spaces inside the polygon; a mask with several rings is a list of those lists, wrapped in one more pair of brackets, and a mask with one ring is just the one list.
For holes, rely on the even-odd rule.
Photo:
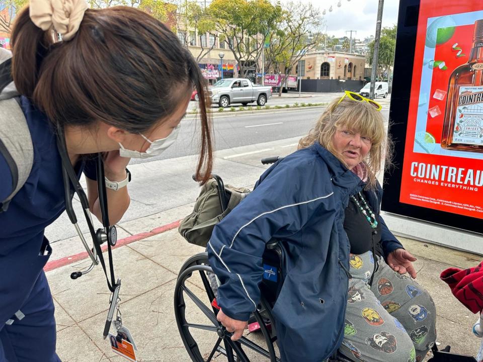
{"label": "blonde woman in blue jacket and superhero pants, seated in wheelchair", "polygon": [[286,250],[273,308],[283,361],[422,360],[436,311],[412,261],[379,215],[376,175],[388,157],[380,105],[346,92],[299,149],[270,167],[214,229],[208,244],[221,285],[218,320],[232,339],[260,299],[265,244]]}

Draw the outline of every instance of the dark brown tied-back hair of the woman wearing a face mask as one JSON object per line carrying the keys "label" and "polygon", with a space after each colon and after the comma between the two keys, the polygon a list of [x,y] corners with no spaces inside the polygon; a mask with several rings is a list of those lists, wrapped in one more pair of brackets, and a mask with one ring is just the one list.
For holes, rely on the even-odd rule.
{"label": "dark brown tied-back hair of the woman wearing a face mask", "polygon": [[37,28],[29,8],[12,32],[12,71],[19,92],[56,127],[102,121],[144,133],[173,114],[191,89],[201,118],[197,178],[213,163],[212,121],[206,80],[191,53],[163,23],[129,7],[88,9],[70,41],[54,42]]}

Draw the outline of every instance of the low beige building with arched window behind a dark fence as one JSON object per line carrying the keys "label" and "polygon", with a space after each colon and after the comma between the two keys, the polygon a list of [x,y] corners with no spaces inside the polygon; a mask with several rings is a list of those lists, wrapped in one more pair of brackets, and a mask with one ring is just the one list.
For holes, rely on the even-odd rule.
{"label": "low beige building with arched window behind a dark fence", "polygon": [[[316,51],[304,55],[302,79],[363,80],[365,56],[337,51]],[[294,74],[298,74],[298,64]]]}

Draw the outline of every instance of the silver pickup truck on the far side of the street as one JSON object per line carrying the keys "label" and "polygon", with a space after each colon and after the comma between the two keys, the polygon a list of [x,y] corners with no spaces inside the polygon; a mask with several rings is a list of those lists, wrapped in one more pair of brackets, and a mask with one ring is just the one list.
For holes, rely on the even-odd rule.
{"label": "silver pickup truck on the far side of the street", "polygon": [[254,85],[246,78],[226,78],[218,80],[209,89],[211,101],[220,107],[226,108],[232,103],[241,103],[246,106],[257,102],[259,106],[265,106],[267,100],[272,97],[272,87]]}

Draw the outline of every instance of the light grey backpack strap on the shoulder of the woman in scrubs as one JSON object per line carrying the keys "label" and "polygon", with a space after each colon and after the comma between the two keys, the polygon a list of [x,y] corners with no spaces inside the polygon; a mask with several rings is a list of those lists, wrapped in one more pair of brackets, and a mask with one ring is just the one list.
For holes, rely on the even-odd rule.
{"label": "light grey backpack strap on the shoulder of the woman in scrubs", "polygon": [[0,200],[0,213],[24,186],[34,161],[34,148],[27,120],[20,107],[20,95],[12,79],[12,53],[0,48],[0,153],[12,174],[12,193]]}

